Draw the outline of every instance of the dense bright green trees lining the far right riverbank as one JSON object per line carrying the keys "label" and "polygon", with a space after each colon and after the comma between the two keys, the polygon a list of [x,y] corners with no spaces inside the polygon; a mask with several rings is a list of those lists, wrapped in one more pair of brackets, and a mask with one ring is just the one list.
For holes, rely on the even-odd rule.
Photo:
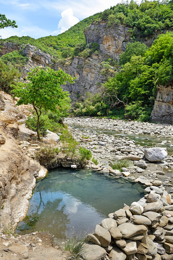
{"label": "dense bright green trees lining the far right riverbank", "polygon": [[[157,84],[173,81],[173,33],[160,34],[149,49],[128,43],[120,55],[121,69],[102,85],[100,93],[75,103],[75,115],[122,116],[148,121]],[[128,101],[125,102],[125,100]]]}

